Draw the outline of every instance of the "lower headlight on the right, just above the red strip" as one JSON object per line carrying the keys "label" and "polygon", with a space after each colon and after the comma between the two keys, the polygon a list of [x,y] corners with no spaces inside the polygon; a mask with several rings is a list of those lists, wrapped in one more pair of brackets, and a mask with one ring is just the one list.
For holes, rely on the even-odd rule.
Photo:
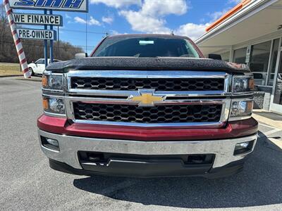
{"label": "lower headlight on the right, just above the red strip", "polygon": [[230,117],[250,117],[252,115],[252,100],[233,100],[231,103]]}

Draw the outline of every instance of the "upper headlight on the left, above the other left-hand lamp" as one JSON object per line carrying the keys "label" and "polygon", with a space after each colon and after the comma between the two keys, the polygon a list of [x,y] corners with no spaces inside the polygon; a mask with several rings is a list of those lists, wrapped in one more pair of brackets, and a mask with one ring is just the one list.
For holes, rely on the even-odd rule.
{"label": "upper headlight on the left, above the other left-hand lamp", "polygon": [[63,75],[43,75],[42,87],[44,89],[63,90]]}

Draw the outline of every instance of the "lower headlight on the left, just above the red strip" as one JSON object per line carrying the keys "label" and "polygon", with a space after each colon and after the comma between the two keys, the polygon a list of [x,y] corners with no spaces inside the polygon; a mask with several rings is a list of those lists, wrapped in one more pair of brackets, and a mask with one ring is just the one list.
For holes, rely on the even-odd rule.
{"label": "lower headlight on the left, just above the red strip", "polygon": [[63,98],[56,98],[53,96],[43,97],[43,108],[47,113],[65,114],[65,104]]}

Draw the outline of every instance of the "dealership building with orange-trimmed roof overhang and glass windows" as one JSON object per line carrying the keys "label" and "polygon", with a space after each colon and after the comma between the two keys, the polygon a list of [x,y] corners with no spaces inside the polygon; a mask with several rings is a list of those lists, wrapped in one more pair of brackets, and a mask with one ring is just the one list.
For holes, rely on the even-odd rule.
{"label": "dealership building with orange-trimmed roof overhang and glass windows", "polygon": [[196,40],[205,56],[249,65],[255,108],[282,113],[282,0],[243,0]]}

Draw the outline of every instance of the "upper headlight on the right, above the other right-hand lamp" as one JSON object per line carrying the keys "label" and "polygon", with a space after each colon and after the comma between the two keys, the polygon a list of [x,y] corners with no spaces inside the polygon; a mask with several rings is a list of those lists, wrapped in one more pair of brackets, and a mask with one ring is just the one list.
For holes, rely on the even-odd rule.
{"label": "upper headlight on the right, above the other right-hand lamp", "polygon": [[234,77],[233,79],[233,94],[242,92],[254,91],[254,78],[253,77]]}

